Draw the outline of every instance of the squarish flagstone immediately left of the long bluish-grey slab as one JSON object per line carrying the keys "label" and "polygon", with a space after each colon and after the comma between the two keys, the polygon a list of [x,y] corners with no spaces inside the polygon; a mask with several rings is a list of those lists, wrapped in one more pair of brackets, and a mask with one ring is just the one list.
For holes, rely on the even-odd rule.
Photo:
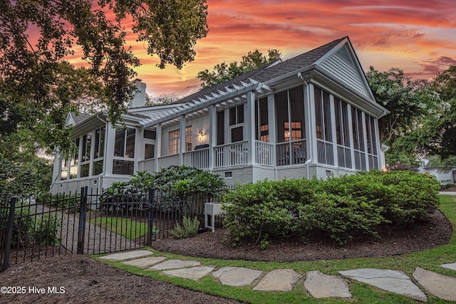
{"label": "squarish flagstone immediately left of the long bluish-grey slab", "polygon": [[351,298],[345,279],[338,276],[328,276],[321,271],[308,271],[304,287],[314,298]]}

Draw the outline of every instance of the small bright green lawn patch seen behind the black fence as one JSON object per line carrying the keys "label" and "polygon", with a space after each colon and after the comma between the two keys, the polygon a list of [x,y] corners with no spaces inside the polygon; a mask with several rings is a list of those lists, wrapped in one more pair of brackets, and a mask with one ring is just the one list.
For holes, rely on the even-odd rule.
{"label": "small bright green lawn patch seen behind the black fence", "polygon": [[[125,237],[126,239],[134,240],[147,234],[149,228],[147,223],[133,221],[121,217],[100,217],[98,219],[90,219],[90,223],[107,229],[115,234]],[[152,228],[152,233],[156,233],[155,226]]]}

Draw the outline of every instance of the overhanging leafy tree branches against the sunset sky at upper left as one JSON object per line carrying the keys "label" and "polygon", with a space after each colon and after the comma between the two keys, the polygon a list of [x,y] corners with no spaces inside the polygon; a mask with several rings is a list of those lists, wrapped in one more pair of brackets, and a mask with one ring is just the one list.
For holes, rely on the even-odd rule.
{"label": "overhanging leafy tree branches against the sunset sky at upper left", "polygon": [[[9,88],[6,98],[35,103],[31,108],[43,112],[38,122],[58,133],[69,100],[84,95],[71,80],[85,73],[81,83],[94,85],[95,98],[108,105],[110,120],[116,122],[134,93],[133,68],[140,65],[125,46],[125,26],[131,24],[138,41],[147,43],[147,53],[159,56],[160,68],[182,68],[193,60],[197,39],[207,34],[206,17],[205,0],[1,1],[0,78]],[[62,63],[77,48],[90,65],[87,70]],[[47,140],[55,144],[55,138]]]}

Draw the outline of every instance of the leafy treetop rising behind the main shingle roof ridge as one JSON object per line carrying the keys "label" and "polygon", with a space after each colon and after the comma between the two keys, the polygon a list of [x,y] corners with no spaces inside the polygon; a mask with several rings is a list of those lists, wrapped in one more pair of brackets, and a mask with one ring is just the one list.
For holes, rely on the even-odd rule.
{"label": "leafy treetop rising behind the main shingle roof ridge", "polygon": [[271,63],[280,58],[280,52],[276,49],[268,50],[266,55],[263,55],[257,49],[249,51],[246,56],[242,56],[242,61],[238,63],[219,63],[214,65],[214,70],[202,70],[197,74],[197,78],[202,81],[201,87],[209,88],[212,85],[221,83],[224,80],[235,78],[239,75],[247,73],[249,70],[254,70],[262,65]]}

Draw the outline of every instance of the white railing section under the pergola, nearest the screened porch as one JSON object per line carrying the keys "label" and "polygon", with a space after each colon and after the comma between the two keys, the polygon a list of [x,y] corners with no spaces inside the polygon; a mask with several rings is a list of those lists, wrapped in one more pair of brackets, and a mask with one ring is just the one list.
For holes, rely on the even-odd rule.
{"label": "white railing section under the pergola, nearest the screened porch", "polygon": [[247,141],[214,147],[214,167],[247,164],[248,153]]}

